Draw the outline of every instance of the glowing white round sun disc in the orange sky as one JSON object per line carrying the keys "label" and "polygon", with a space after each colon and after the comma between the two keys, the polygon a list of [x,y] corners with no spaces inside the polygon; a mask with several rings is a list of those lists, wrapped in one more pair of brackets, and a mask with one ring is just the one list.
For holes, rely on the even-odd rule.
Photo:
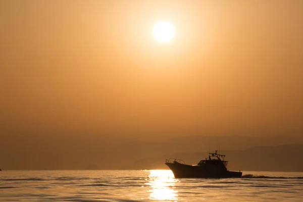
{"label": "glowing white round sun disc in the orange sky", "polygon": [[159,22],[153,29],[154,37],[160,42],[168,42],[175,35],[174,26],[167,21]]}

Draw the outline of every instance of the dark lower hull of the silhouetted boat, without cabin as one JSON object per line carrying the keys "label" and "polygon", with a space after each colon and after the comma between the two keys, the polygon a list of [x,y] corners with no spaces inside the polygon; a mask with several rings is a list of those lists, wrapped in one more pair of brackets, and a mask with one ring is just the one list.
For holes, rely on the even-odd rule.
{"label": "dark lower hull of the silhouetted boat, without cabin", "polygon": [[228,171],[218,166],[191,166],[180,163],[165,163],[175,178],[239,178],[242,172]]}

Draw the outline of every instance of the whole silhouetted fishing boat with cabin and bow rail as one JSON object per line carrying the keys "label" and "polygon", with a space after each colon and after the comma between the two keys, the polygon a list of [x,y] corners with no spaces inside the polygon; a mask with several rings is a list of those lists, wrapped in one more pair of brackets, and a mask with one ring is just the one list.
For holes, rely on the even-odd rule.
{"label": "whole silhouetted fishing boat with cabin and bow rail", "polygon": [[239,178],[242,172],[228,171],[225,155],[209,153],[209,158],[197,165],[187,165],[179,159],[166,159],[166,165],[172,170],[175,178]]}

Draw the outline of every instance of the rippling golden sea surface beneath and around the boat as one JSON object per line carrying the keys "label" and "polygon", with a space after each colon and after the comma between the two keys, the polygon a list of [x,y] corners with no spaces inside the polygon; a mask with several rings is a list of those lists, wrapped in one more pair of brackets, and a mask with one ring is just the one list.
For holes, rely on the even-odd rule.
{"label": "rippling golden sea surface beneath and around the boat", "polygon": [[303,201],[303,173],[175,179],[170,170],[2,171],[0,201]]}

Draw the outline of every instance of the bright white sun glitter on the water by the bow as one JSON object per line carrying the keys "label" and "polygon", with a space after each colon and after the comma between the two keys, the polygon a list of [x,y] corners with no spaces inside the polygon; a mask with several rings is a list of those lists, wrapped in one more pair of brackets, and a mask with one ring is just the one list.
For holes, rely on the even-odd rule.
{"label": "bright white sun glitter on the water by the bow", "polygon": [[178,191],[173,188],[178,180],[175,179],[171,170],[150,170],[148,180],[145,184],[151,188],[148,190],[149,199],[177,201]]}

